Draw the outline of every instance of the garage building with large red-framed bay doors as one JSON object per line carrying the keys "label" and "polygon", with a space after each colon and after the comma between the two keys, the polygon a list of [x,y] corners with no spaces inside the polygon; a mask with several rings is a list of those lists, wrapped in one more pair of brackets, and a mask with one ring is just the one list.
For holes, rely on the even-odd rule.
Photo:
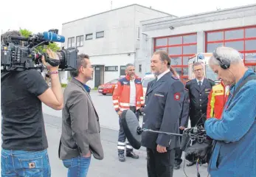
{"label": "garage building with large red-framed bay doors", "polygon": [[256,71],[256,4],[179,18],[163,17],[141,21],[141,38],[135,60],[136,72],[150,72],[151,56],[166,50],[171,65],[187,80],[187,60],[199,52],[230,46],[243,55],[246,66]]}

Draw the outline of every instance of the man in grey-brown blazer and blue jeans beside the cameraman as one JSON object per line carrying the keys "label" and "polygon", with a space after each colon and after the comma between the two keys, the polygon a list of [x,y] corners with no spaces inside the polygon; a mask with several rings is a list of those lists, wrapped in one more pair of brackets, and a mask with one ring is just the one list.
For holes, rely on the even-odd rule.
{"label": "man in grey-brown blazer and blue jeans beside the cameraman", "polygon": [[71,72],[73,78],[64,91],[59,158],[69,169],[70,177],[87,175],[91,154],[100,160],[104,156],[99,117],[86,85],[92,73],[89,56],[81,54],[77,59],[77,70]]}

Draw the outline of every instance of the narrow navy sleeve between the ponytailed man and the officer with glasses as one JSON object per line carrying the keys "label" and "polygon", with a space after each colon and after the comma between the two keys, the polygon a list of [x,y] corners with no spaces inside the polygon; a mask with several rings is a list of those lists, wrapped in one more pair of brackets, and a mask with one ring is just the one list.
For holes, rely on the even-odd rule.
{"label": "narrow navy sleeve between the ponytailed man and the officer with glasses", "polygon": [[180,123],[179,123],[180,126],[187,128],[189,114],[190,114],[190,97],[189,97],[188,90],[185,89],[185,91],[184,91],[184,101],[183,101],[182,111],[181,111],[181,117],[179,119],[180,120]]}

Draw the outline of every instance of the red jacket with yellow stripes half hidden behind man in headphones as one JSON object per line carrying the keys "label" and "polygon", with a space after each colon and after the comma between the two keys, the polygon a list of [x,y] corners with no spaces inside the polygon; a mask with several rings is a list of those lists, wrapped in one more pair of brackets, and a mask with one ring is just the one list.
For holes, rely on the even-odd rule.
{"label": "red jacket with yellow stripes half hidden behind man in headphones", "polygon": [[222,81],[220,84],[212,86],[212,90],[208,95],[207,119],[210,117],[221,119],[222,111],[228,97],[229,86],[225,86]]}

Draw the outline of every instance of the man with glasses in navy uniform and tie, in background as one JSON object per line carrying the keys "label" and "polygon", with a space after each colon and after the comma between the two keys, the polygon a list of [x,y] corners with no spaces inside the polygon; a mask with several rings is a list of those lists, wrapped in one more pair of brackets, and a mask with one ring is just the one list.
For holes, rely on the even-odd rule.
{"label": "man with glasses in navy uniform and tie, in background", "polygon": [[[207,119],[208,95],[212,86],[215,86],[215,82],[204,77],[204,66],[202,63],[194,63],[193,72],[196,78],[188,80],[185,86],[190,95],[190,124],[191,127],[196,125],[204,126],[204,122]],[[190,162],[187,166],[193,164],[196,164],[196,162]]]}

